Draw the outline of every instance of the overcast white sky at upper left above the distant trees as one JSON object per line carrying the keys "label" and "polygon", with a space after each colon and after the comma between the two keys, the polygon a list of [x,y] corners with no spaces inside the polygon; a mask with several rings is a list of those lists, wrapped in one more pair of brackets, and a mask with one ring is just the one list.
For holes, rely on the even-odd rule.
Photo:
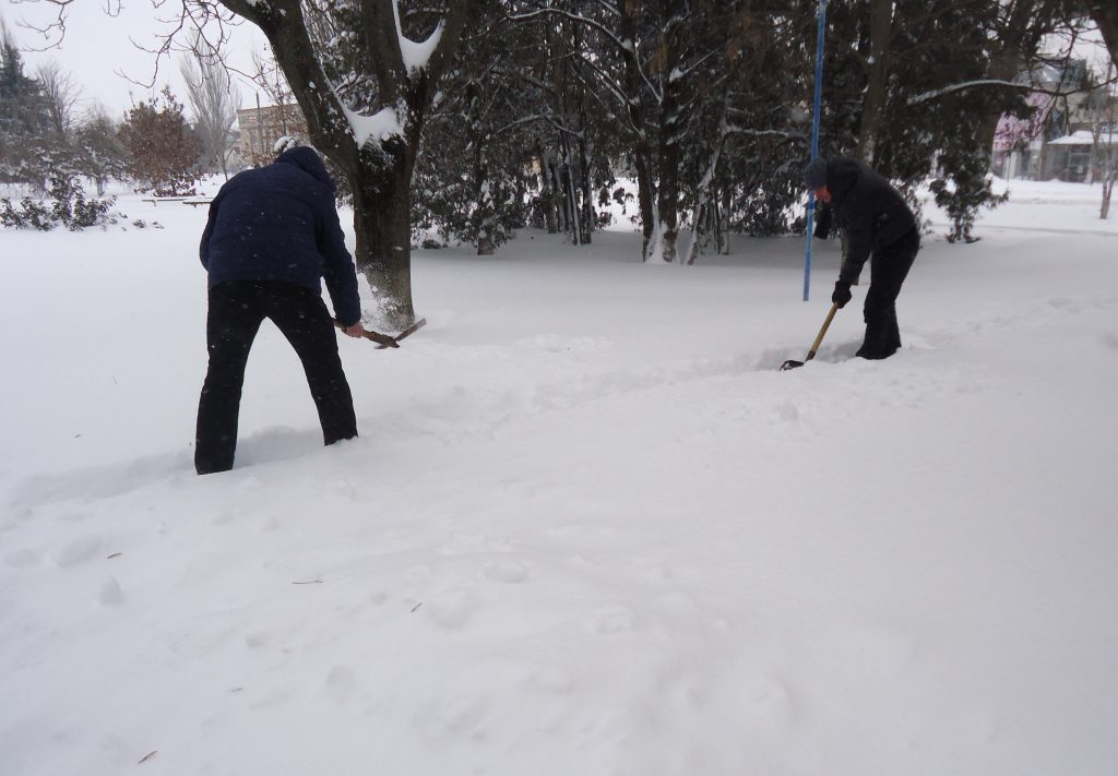
{"label": "overcast white sky at upper left above the distant trees", "polygon": [[[132,42],[135,40],[148,48],[157,48],[159,34],[174,28],[174,25],[164,23],[161,19],[176,15],[180,8],[177,0],[165,2],[162,10],[153,8],[151,0],[124,0],[116,17],[105,13],[104,0],[77,0],[69,8],[66,38],[60,46],[32,51],[28,49],[42,48],[48,44],[40,34],[27,29],[21,22],[46,26],[57,16],[57,8],[41,2],[0,0],[0,16],[23,50],[28,74],[39,64],[54,59],[80,85],[86,104],[100,101],[114,116],[123,115],[132,105],[133,96],[136,101],[144,100],[170,84],[172,92],[190,112],[186,86],[179,75],[179,57],[182,55],[164,57],[157,74],[155,56],[140,50]],[[243,23],[233,34],[230,60],[235,66],[250,69],[253,49],[264,51],[266,42],[259,30]],[[142,83],[155,78],[155,88],[130,83],[124,76]],[[241,82],[238,87],[241,107],[255,105],[255,86]],[[264,94],[260,94],[260,100],[267,104]]]}

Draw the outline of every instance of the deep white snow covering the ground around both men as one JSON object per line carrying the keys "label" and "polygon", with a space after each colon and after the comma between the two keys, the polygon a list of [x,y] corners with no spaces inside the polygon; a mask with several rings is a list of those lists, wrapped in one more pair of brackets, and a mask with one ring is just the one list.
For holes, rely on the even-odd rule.
{"label": "deep white snow covering the ground around both men", "polygon": [[1116,773],[1118,219],[1011,189],[789,372],[834,245],[418,252],[360,439],[265,325],[208,477],[205,209],[0,233],[0,774]]}

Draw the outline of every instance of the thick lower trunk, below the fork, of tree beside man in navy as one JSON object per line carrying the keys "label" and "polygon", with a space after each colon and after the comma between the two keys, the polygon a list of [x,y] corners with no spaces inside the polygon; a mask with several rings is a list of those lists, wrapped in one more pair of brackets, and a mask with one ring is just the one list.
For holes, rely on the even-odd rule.
{"label": "thick lower trunk, below the fork, of tree beside man in navy", "polygon": [[408,152],[370,162],[350,176],[357,268],[377,296],[386,328],[400,330],[415,321],[411,304],[411,163]]}

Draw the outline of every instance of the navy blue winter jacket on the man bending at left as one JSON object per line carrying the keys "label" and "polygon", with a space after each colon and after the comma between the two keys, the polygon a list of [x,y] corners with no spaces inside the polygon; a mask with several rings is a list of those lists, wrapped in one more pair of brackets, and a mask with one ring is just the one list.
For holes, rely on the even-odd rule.
{"label": "navy blue winter jacket on the man bending at left", "polygon": [[226,281],[282,281],[322,292],[345,325],[361,319],[353,258],[345,249],[334,182],[305,145],[234,176],[210,204],[199,256],[209,287]]}

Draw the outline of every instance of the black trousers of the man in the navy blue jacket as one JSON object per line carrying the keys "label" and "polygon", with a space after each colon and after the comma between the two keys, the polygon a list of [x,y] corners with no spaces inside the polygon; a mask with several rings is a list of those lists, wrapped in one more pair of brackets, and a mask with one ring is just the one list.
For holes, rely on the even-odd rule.
{"label": "black trousers of the man in the navy blue jacket", "polygon": [[322,296],[291,283],[230,281],[209,290],[209,368],[198,400],[195,434],[195,469],[199,474],[233,469],[245,365],[265,318],[278,327],[303,362],[323,442],[331,445],[357,436],[353,397]]}

